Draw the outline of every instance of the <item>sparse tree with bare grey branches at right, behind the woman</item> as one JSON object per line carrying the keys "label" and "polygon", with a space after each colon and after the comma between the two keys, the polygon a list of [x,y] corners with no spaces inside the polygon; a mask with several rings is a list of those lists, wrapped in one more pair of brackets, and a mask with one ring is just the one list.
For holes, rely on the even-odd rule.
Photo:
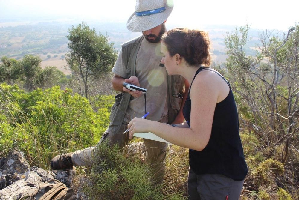
{"label": "sparse tree with bare grey branches at right, behind the woman", "polygon": [[286,162],[299,130],[299,25],[282,38],[274,31],[260,34],[255,57],[244,52],[248,30],[246,25],[225,36],[229,78],[242,103],[241,119],[266,146],[283,145],[281,161]]}

